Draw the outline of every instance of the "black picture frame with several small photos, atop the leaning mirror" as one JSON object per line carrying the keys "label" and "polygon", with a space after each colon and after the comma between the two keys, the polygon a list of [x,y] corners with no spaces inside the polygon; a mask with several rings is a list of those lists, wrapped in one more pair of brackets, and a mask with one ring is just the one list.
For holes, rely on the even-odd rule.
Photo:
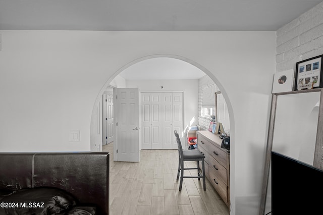
{"label": "black picture frame with several small photos, atop the leaning mirror", "polygon": [[323,86],[322,55],[296,63],[294,91]]}

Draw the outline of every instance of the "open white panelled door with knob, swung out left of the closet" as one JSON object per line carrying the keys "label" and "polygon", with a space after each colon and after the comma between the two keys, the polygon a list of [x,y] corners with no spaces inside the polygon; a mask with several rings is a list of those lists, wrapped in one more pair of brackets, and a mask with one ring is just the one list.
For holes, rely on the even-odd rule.
{"label": "open white panelled door with knob, swung out left of the closet", "polygon": [[116,88],[115,92],[116,160],[139,162],[139,89]]}

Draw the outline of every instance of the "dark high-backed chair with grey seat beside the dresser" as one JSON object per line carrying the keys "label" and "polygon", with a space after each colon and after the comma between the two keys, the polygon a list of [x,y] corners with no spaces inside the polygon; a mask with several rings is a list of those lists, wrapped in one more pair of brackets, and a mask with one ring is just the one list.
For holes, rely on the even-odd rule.
{"label": "dark high-backed chair with grey seat beside the dresser", "polygon": [[[203,178],[203,189],[205,190],[205,156],[199,150],[183,150],[181,139],[176,130],[174,130],[174,134],[178,145],[178,171],[176,180],[178,181],[178,178],[181,178],[179,191],[182,190],[183,178],[198,178],[198,180],[200,180],[200,178]],[[196,161],[197,168],[184,168],[184,161]],[[199,172],[199,161],[202,161],[202,175],[200,175]],[[184,170],[197,170],[197,176],[184,176]]]}

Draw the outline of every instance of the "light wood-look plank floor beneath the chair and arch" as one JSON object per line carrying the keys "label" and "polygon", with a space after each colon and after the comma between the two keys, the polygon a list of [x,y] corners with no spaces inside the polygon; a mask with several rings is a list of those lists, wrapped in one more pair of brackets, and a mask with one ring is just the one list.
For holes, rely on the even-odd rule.
{"label": "light wood-look plank floor beneath the chair and arch", "polygon": [[[228,215],[228,207],[206,180],[185,178],[182,191],[176,181],[177,150],[141,150],[140,162],[113,161],[113,143],[103,146],[110,152],[110,215],[117,214],[212,214]],[[186,162],[196,166],[195,162]],[[184,175],[196,175],[185,170]]]}

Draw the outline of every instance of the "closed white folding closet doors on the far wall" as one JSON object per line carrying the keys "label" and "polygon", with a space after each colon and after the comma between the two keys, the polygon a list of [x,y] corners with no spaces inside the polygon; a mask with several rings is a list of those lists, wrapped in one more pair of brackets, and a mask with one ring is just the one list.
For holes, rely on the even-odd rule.
{"label": "closed white folding closet doors on the far wall", "polygon": [[177,149],[174,129],[183,130],[183,93],[142,92],[142,149]]}

